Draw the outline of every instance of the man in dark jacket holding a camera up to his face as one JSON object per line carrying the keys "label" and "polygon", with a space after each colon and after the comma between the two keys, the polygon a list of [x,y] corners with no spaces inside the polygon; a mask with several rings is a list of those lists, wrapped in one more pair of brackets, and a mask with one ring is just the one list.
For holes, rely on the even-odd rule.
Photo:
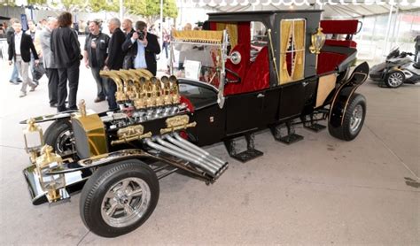
{"label": "man in dark jacket holding a camera up to his face", "polygon": [[136,32],[128,34],[122,44],[122,50],[127,52],[124,58],[124,69],[145,68],[156,75],[156,55],[160,53],[158,37],[147,32],[144,21],[136,22]]}

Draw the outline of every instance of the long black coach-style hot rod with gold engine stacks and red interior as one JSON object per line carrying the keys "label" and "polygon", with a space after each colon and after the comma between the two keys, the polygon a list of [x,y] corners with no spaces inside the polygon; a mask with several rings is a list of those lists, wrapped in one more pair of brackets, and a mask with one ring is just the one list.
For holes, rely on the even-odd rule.
{"label": "long black coach-style hot rod with gold engine stacks and red interior", "polygon": [[[259,130],[292,143],[303,138],[293,126],[319,131],[324,119],[332,136],[353,140],[366,113],[364,96],[354,91],[369,73],[366,63],[349,72],[358,21],[320,21],[320,14],[211,13],[204,30],[173,33],[171,46],[196,52],[186,56],[187,78],[103,71],[117,85],[118,110],[96,113],[81,102],[79,111],[22,121],[33,204],[82,189],[83,223],[113,237],[151,216],[159,179],[182,171],[209,184],[226,171],[228,163],[202,146],[224,142],[230,157],[245,162],[263,154],[254,146]],[[325,40],[324,33],[347,38]],[[44,121],[52,123],[43,134]],[[235,142],[244,136],[239,151]]]}

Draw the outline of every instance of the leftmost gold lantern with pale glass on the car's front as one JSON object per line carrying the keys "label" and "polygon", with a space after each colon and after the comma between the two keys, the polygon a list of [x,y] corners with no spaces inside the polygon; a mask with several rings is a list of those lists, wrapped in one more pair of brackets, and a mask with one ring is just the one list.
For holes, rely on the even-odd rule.
{"label": "leftmost gold lantern with pale glass on the car's front", "polygon": [[31,155],[32,163],[35,163],[35,158],[43,147],[43,128],[35,124],[35,119],[28,119],[23,137],[25,138],[25,150]]}

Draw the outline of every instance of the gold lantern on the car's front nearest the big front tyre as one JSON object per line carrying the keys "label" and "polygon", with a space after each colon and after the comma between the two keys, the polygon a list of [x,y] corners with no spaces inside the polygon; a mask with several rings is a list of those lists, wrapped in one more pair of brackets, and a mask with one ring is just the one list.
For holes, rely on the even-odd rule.
{"label": "gold lantern on the car's front nearest the big front tyre", "polygon": [[66,191],[66,179],[63,173],[50,174],[51,171],[63,169],[63,159],[52,152],[50,145],[43,146],[42,155],[36,158],[36,171],[39,175],[41,188],[46,192],[50,203],[68,197]]}

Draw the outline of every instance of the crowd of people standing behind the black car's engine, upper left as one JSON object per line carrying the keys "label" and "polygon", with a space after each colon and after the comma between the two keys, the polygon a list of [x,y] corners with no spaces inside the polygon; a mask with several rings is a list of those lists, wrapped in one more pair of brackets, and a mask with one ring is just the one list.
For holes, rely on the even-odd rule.
{"label": "crowd of people standing behind the black car's engine, upper left", "polygon": [[[112,80],[102,78],[99,75],[101,70],[144,68],[156,75],[156,56],[161,49],[158,36],[152,34],[152,27],[148,29],[144,21],[136,21],[133,25],[131,19],[122,22],[118,18],[110,19],[107,23],[110,35],[106,35],[102,32],[102,22],[91,20],[86,27],[88,32],[82,49],[77,30],[80,32],[83,27],[74,27],[70,12],[61,13],[57,19],[45,19],[38,23],[38,27],[29,20],[26,32],[22,31],[18,19],[11,19],[11,24],[6,31],[9,64],[13,65],[10,82],[21,84],[19,96],[27,96],[28,87],[29,91],[34,91],[38,86],[36,72],[44,69],[50,105],[57,107],[58,112],[77,109],[81,62],[89,68],[97,83],[94,101],[107,100],[110,110],[117,108],[116,85]],[[164,36],[162,46],[166,54],[167,44],[168,37]]]}

